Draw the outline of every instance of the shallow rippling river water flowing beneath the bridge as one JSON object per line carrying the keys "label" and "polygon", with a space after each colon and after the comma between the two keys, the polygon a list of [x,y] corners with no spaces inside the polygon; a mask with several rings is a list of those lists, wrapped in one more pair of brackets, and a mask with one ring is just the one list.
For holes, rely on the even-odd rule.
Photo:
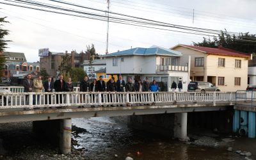
{"label": "shallow rippling river water flowing beneath the bridge", "polygon": [[74,118],[72,124],[88,131],[76,138],[88,159],[244,159],[227,147],[198,147],[130,129],[118,118]]}

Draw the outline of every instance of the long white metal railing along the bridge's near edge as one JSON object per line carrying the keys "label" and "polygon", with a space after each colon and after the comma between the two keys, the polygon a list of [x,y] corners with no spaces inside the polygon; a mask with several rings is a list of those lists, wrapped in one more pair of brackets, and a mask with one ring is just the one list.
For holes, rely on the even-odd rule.
{"label": "long white metal railing along the bridge's near edge", "polygon": [[[241,93],[246,94],[246,93]],[[0,109],[236,102],[236,92],[23,92],[0,93]]]}

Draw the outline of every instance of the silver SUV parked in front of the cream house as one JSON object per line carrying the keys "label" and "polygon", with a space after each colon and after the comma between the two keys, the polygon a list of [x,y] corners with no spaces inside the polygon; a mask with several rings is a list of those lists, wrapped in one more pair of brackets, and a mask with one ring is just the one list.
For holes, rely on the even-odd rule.
{"label": "silver SUV parked in front of the cream house", "polygon": [[192,81],[188,84],[188,91],[189,92],[220,92],[220,88],[214,86],[212,83],[209,82],[202,82],[202,81]]}

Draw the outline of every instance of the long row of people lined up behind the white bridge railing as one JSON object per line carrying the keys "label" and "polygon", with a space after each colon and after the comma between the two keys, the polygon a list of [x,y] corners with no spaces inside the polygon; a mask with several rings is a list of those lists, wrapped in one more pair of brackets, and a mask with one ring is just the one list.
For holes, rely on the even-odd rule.
{"label": "long row of people lined up behind the white bridge railing", "polygon": [[[42,82],[42,76],[37,76],[33,81],[31,80],[31,74],[27,75],[27,78],[23,82],[24,92],[73,92],[74,86],[72,80],[68,77],[68,81],[65,82],[63,75],[59,76],[59,79],[52,81],[52,77],[48,77],[45,83]],[[140,79],[136,83],[132,83],[132,78],[128,78],[128,82],[125,83],[122,75],[118,76],[115,81],[115,77],[111,77],[107,83],[103,80],[103,76],[99,77],[99,80],[93,79],[92,83],[89,83],[88,76],[84,76],[83,81],[80,83],[80,92],[158,92],[159,86],[154,80],[152,84],[149,83],[148,78],[142,83]],[[59,95],[60,96],[60,95]],[[56,103],[62,102],[62,96],[60,96]],[[47,104],[51,104],[51,96],[46,97]],[[48,102],[47,102],[48,101]],[[40,95],[33,95],[33,104],[39,104]],[[26,95],[26,104],[28,104],[28,95]]]}

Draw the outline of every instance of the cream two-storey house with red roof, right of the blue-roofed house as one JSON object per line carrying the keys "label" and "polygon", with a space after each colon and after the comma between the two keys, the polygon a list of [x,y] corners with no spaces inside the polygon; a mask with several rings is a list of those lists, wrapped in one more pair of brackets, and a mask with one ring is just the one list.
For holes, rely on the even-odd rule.
{"label": "cream two-storey house with red roof, right of the blue-roofed house", "polygon": [[245,90],[250,54],[225,47],[209,48],[193,45],[175,45],[171,49],[191,57],[191,81],[207,81],[223,92]]}

